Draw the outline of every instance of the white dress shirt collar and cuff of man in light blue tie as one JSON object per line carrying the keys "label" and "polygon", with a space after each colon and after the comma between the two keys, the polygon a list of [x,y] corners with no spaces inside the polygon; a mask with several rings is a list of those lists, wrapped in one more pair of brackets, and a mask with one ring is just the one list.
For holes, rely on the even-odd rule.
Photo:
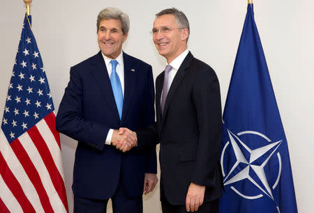
{"label": "white dress shirt collar and cuff of man in light blue tie", "polygon": [[[105,60],[105,65],[106,65],[106,68],[108,71],[109,78],[110,78],[110,75],[112,72],[112,65],[111,65],[110,61],[117,60],[118,64],[117,64],[116,72],[117,72],[119,79],[120,79],[120,82],[121,82],[122,94],[124,95],[124,57],[123,57],[122,51],[119,54],[119,56],[115,59],[108,58],[107,56],[105,56],[103,54],[103,52],[101,52],[101,54],[103,55],[103,59]],[[114,129],[109,129],[105,144],[111,145],[111,139],[112,139],[113,132],[114,132]]]}

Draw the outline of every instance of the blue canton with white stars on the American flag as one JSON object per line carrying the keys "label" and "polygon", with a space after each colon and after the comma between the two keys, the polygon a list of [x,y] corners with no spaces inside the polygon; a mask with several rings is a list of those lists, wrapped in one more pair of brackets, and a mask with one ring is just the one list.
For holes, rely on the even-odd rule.
{"label": "blue canton with white stars on the American flag", "polygon": [[11,143],[54,111],[43,61],[25,15],[1,129]]}

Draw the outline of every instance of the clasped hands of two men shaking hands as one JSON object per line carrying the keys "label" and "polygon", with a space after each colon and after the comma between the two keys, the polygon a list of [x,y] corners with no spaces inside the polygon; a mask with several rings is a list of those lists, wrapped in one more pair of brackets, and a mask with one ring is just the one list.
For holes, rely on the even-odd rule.
{"label": "clasped hands of two men shaking hands", "polygon": [[137,145],[136,133],[128,128],[114,129],[111,144],[122,152],[126,152]]}

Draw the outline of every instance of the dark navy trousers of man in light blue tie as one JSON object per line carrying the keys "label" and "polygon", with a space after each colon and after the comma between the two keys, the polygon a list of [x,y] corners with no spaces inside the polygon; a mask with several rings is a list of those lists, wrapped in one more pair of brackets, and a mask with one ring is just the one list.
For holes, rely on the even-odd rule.
{"label": "dark navy trousers of man in light blue tie", "polygon": [[[120,178],[116,192],[111,198],[114,213],[142,213],[142,196],[128,198]],[[108,200],[82,198],[74,195],[74,213],[106,213]]]}

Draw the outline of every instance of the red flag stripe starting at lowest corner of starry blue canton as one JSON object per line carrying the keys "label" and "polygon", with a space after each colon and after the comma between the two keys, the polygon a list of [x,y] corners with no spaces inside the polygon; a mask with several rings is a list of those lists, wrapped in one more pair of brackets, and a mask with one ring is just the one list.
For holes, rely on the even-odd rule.
{"label": "red flag stripe starting at lowest corner of starry blue canton", "polygon": [[[22,139],[22,136],[20,137],[20,139]],[[43,209],[45,210],[45,212],[53,212],[52,206],[50,205],[50,200],[47,196],[47,192],[43,187],[43,182],[41,182],[40,180],[38,171],[36,170],[31,159],[29,158],[29,155],[27,155],[27,152],[24,150],[20,141],[17,139],[17,141],[15,141],[15,143],[11,145],[11,148],[17,156],[17,159],[19,159],[21,165],[23,166],[24,171],[29,176],[29,180],[31,180],[31,182],[33,183],[33,187],[35,187],[38,193],[40,203],[43,206]]]}

